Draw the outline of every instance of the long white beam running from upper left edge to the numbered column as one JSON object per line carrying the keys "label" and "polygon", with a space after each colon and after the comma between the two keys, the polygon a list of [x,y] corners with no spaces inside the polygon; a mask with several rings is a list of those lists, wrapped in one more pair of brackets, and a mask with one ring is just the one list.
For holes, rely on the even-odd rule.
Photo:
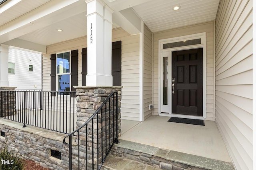
{"label": "long white beam running from upper left edge to the numbered column", "polygon": [[0,27],[0,43],[86,11],[83,0],[54,0]]}

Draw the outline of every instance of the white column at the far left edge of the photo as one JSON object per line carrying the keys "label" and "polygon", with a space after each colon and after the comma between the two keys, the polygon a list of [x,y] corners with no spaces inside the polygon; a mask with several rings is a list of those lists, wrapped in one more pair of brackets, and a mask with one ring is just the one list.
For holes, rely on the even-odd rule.
{"label": "white column at the far left edge of the photo", "polygon": [[9,45],[0,44],[0,87],[8,87]]}

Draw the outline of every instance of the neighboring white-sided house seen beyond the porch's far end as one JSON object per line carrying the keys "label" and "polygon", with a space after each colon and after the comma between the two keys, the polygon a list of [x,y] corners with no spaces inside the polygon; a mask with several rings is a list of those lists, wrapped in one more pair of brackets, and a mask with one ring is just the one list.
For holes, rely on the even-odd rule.
{"label": "neighboring white-sided house seen beyond the porch's far end", "polygon": [[41,53],[9,47],[8,78],[10,86],[17,90],[41,90]]}

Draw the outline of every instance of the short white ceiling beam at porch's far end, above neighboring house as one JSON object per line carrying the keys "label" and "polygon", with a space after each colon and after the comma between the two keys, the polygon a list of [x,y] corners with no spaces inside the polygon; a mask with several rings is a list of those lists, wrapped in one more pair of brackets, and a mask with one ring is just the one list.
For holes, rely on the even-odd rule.
{"label": "short white ceiling beam at porch's far end, above neighboring house", "polygon": [[26,41],[26,40],[23,40],[23,39],[15,38],[15,39],[12,39],[10,41],[6,41],[3,44],[14,46],[14,47],[19,47],[19,48],[22,48],[22,49],[38,51],[42,54],[46,53],[46,45],[33,43],[31,41]]}

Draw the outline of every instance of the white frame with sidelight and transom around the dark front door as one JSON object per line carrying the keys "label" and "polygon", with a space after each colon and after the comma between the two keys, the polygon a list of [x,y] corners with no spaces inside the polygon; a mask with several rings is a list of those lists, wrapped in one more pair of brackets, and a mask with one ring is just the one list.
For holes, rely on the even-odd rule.
{"label": "white frame with sidelight and transom around the dark front door", "polygon": [[[201,44],[197,45],[188,45],[188,46],[182,46],[182,47],[174,47],[174,48],[168,48],[163,49],[163,44],[166,43],[174,43],[184,40],[192,40],[192,39],[201,39]],[[203,48],[203,116],[192,116],[192,115],[180,115],[180,114],[173,114],[172,113],[172,98],[170,97],[171,93],[171,78],[172,75],[168,74],[168,107],[169,107],[169,113],[163,113],[162,108],[165,108],[166,106],[162,107],[163,105],[163,88],[162,88],[162,61],[164,56],[168,56],[168,72],[172,73],[172,51],[180,51],[180,50],[187,50],[187,49],[197,49],[197,48]],[[181,37],[174,37],[174,38],[168,38],[168,39],[160,39],[158,41],[158,114],[162,116],[169,116],[169,117],[181,117],[181,118],[188,118],[188,119],[202,119],[204,120],[206,118],[206,33],[197,33],[192,35],[185,35]]]}

